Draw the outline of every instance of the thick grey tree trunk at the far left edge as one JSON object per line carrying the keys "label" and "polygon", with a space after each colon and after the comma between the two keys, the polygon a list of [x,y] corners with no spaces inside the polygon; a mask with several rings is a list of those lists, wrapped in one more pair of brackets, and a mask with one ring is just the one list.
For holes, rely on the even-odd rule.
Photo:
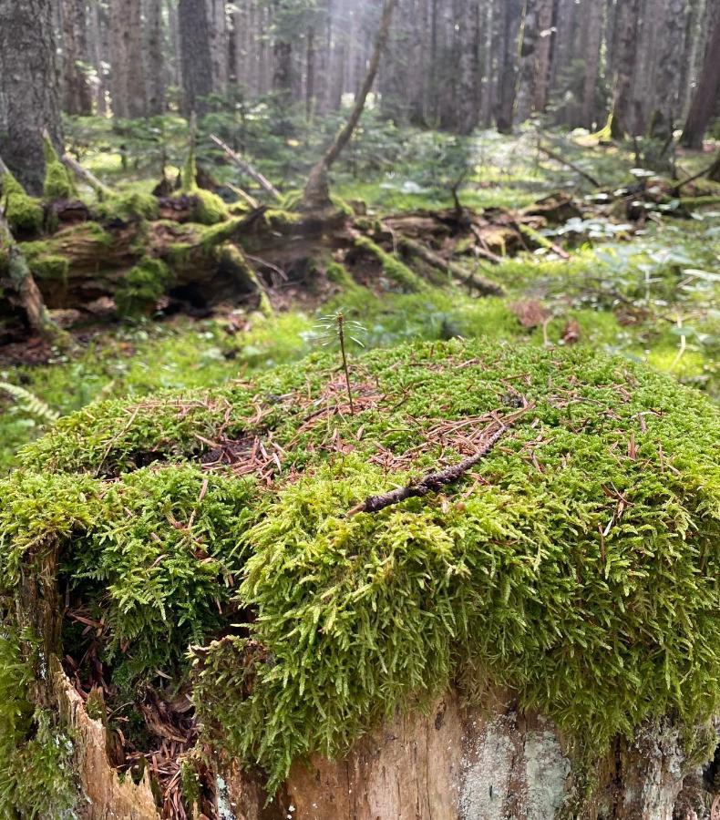
{"label": "thick grey tree trunk at the far left edge", "polygon": [[43,128],[61,146],[51,0],[0,0],[0,156],[30,193],[45,176]]}

